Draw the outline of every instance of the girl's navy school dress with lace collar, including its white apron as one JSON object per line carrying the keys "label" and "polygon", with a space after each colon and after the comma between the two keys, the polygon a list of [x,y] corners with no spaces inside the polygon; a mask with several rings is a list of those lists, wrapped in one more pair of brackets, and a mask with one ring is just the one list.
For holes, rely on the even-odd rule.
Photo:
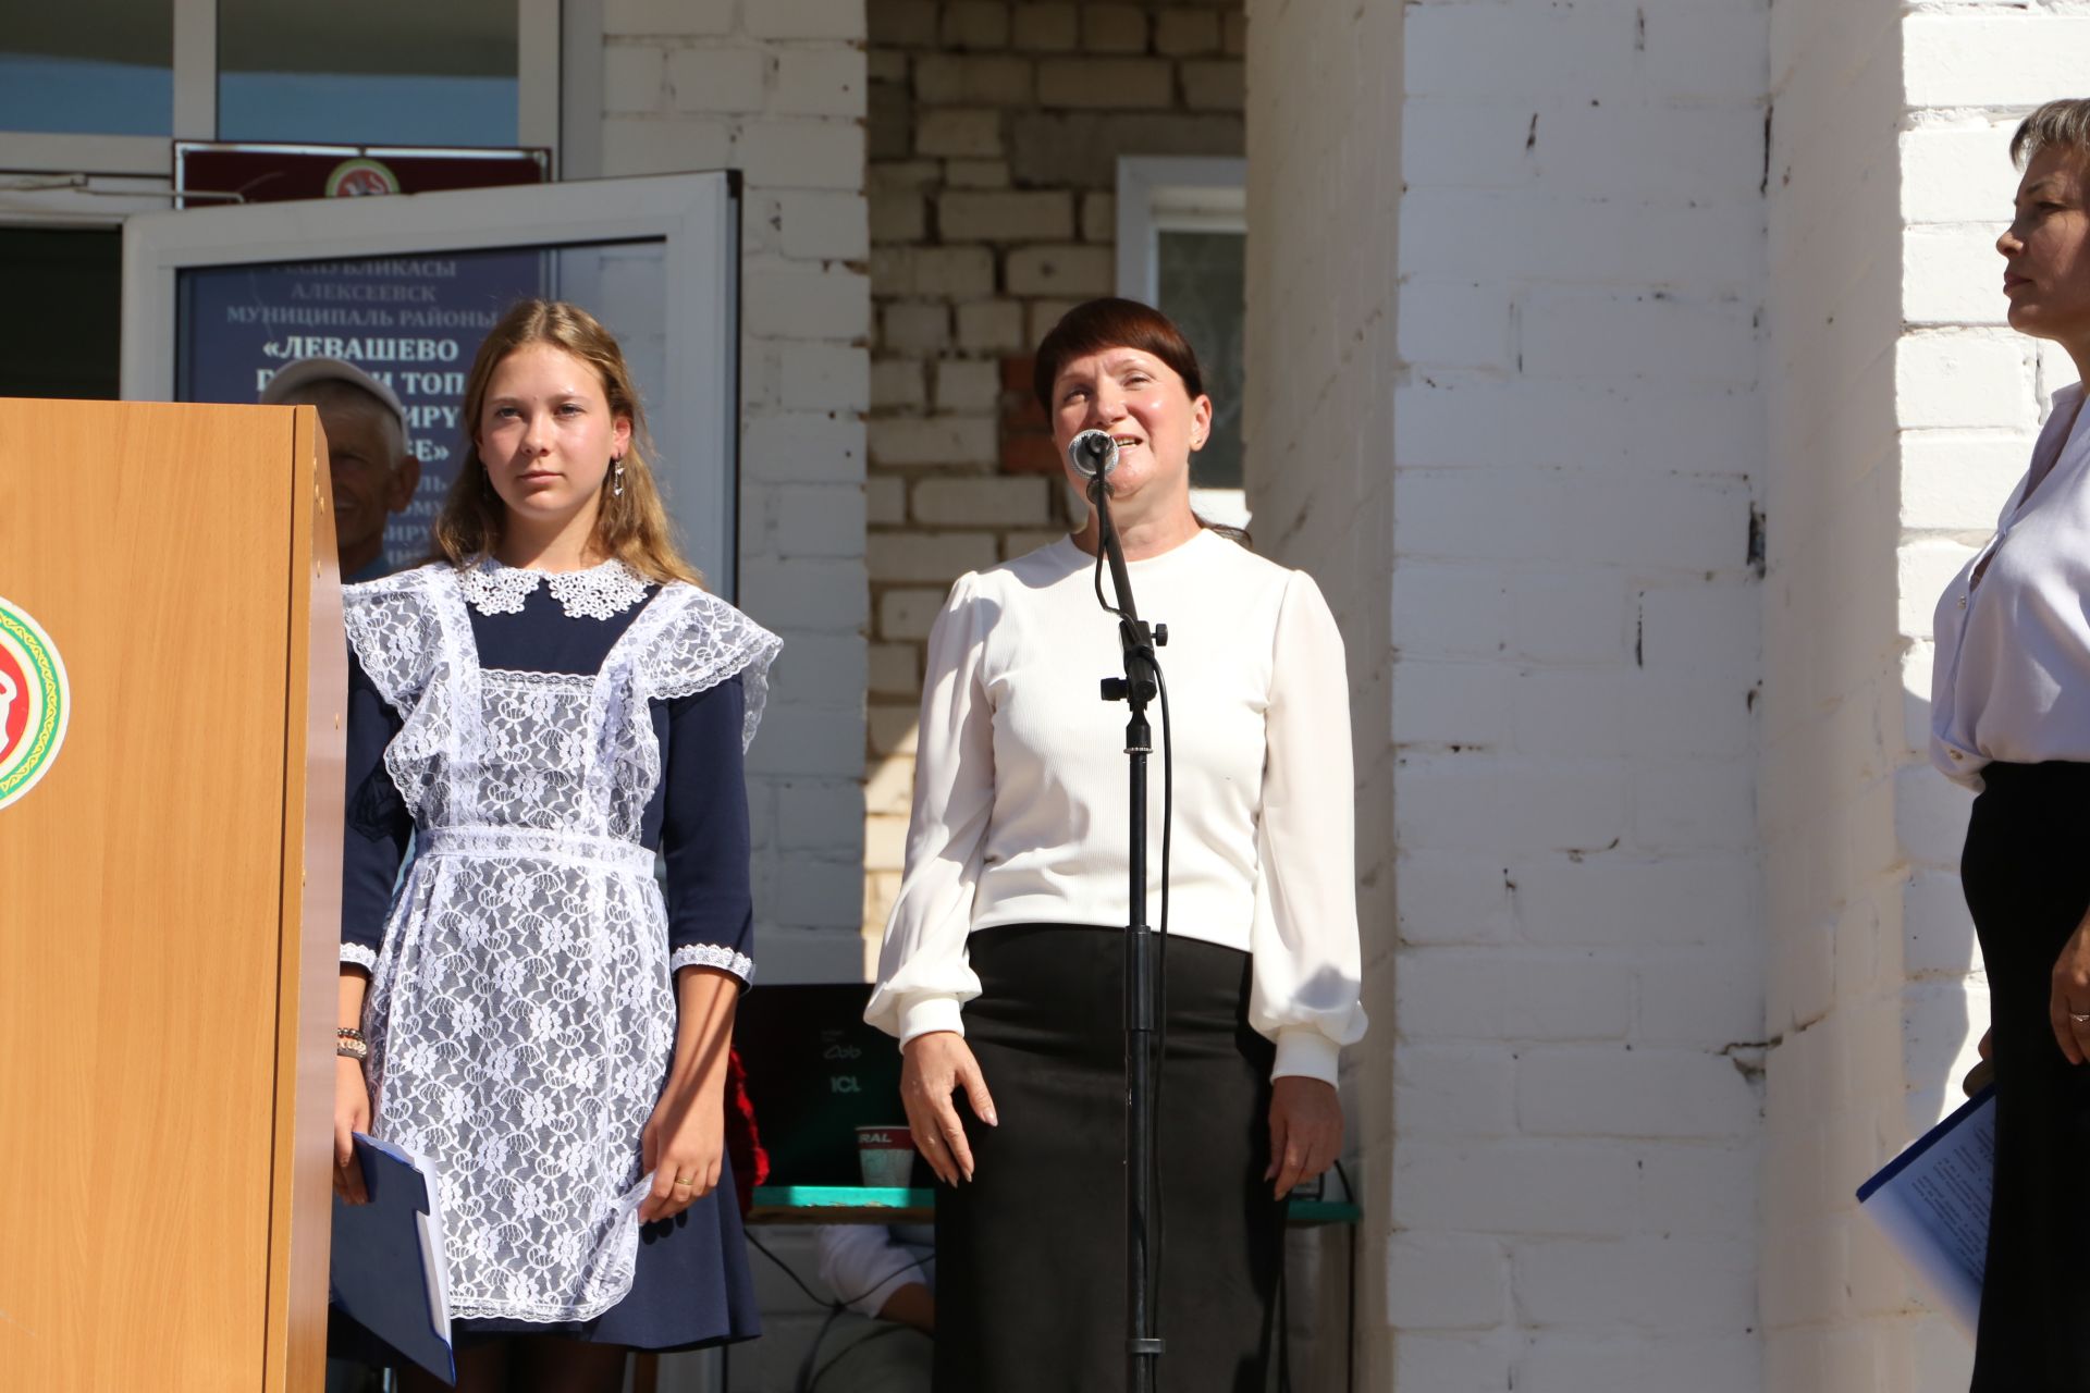
{"label": "girl's navy school dress with lace collar, including its white apron", "polygon": [[433,564],[343,610],[341,961],[372,1132],[437,1176],[458,1339],[757,1335],[729,1170],[640,1226],[640,1134],[675,969],[754,971],[742,754],[780,641],[621,562]]}

